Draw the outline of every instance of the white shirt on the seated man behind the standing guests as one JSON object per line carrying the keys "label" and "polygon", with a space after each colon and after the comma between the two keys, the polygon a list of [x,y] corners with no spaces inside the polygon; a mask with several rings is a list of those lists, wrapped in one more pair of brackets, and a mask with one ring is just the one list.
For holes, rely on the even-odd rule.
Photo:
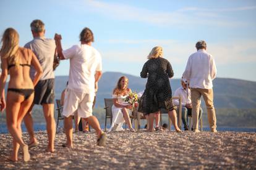
{"label": "white shirt on the seated man behind the standing guests", "polygon": [[[186,104],[191,103],[191,92],[190,89],[184,89],[179,87],[174,92],[174,96],[181,97],[181,105],[186,106]],[[173,99],[174,105],[179,105],[179,99]]]}

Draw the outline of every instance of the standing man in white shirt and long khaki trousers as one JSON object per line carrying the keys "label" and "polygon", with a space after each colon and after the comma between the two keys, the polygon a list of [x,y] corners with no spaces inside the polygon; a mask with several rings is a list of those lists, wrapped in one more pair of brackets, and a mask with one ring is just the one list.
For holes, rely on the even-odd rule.
{"label": "standing man in white shirt and long khaki trousers", "polygon": [[211,132],[216,131],[216,115],[213,105],[213,79],[216,78],[216,65],[212,55],[206,52],[205,41],[198,41],[195,44],[197,52],[190,55],[187,67],[182,77],[187,79],[191,87],[192,118],[194,132],[198,130],[198,115],[200,107],[200,97],[203,96],[208,113],[208,123]]}

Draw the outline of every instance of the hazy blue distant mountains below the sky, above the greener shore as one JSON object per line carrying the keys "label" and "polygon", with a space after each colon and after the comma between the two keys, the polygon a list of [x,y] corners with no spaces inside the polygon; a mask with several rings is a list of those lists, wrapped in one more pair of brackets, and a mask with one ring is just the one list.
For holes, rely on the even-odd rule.
{"label": "hazy blue distant mountains below the sky, above the greener shore", "polygon": [[[121,76],[129,78],[129,87],[132,91],[140,92],[145,89],[147,79],[126,73],[105,72],[99,81],[99,90],[96,107],[104,107],[104,98],[111,98],[117,80]],[[68,76],[56,76],[56,99],[61,96],[66,87]],[[171,88],[174,91],[180,86],[180,79],[171,79]],[[256,82],[241,79],[216,78],[213,81],[214,102],[216,108],[256,108]]]}

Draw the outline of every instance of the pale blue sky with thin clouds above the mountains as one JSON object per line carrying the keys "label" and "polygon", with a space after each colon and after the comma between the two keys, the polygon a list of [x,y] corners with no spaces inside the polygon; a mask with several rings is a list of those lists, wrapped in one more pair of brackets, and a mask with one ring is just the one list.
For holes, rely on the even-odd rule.
{"label": "pale blue sky with thin clouds above the mountains", "polygon": [[[0,1],[0,33],[20,34],[20,46],[32,39],[30,23],[45,22],[46,37],[62,34],[64,49],[79,44],[87,26],[103,57],[103,71],[139,76],[147,55],[162,46],[174,78],[180,78],[195,42],[207,41],[217,76],[256,81],[256,1]],[[55,75],[68,75],[69,61]]]}

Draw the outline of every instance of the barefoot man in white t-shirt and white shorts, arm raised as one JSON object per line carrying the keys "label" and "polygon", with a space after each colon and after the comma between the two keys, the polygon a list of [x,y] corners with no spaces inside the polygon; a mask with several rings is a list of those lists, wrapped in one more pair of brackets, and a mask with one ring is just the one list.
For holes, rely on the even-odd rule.
{"label": "barefoot man in white t-shirt and white shorts, arm raised", "polygon": [[101,131],[98,119],[92,115],[95,89],[98,89],[98,81],[102,75],[100,52],[92,47],[93,33],[89,28],[84,28],[80,33],[81,44],[72,46],[65,51],[62,51],[61,35],[56,34],[54,39],[59,58],[70,60],[69,84],[63,108],[67,142],[62,147],[73,147],[72,116],[75,111],[95,129],[98,136],[97,145],[103,146],[106,142],[106,134]]}

